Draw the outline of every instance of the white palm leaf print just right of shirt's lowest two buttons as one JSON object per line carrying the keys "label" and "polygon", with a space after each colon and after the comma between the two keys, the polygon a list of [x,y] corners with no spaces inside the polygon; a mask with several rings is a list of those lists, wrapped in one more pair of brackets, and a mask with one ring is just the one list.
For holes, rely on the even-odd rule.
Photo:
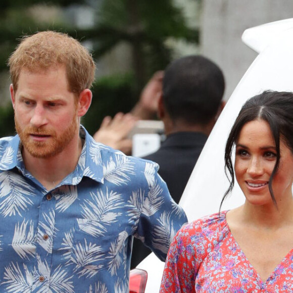
{"label": "white palm leaf print just right of shirt's lowest two buttons", "polygon": [[[87,245],[86,239],[84,239],[84,245],[78,242],[76,246],[72,248],[71,262],[75,264],[73,271],[80,276],[93,277],[98,271],[103,269],[103,264],[97,262],[102,261],[105,258],[103,249],[101,246],[97,246],[89,242]],[[93,264],[95,263],[95,264]]]}

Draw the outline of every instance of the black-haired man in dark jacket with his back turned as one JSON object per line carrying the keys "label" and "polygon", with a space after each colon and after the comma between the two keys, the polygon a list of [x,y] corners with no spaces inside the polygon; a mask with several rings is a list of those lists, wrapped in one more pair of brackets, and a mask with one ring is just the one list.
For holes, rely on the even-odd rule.
{"label": "black-haired man in dark jacket with his back turned", "polygon": [[[164,123],[166,140],[144,159],[159,164],[158,172],[176,203],[225,105],[224,88],[221,69],[203,56],[180,58],[165,70],[158,117]],[[134,239],[131,268],[150,253]]]}

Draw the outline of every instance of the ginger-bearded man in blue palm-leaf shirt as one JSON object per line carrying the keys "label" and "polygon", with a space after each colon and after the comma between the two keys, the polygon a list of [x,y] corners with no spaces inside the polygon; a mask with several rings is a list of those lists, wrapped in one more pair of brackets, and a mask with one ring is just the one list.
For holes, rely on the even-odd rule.
{"label": "ginger-bearded man in blue palm-leaf shirt", "polygon": [[157,164],[80,125],[95,64],[77,40],[24,37],[9,67],[17,135],[0,140],[0,291],[129,292],[133,237],[164,261],[184,211]]}

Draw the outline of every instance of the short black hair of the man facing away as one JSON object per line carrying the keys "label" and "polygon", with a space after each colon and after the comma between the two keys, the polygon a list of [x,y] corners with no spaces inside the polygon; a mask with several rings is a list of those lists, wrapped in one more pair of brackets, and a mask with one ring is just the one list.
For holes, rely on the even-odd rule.
{"label": "short black hair of the man facing away", "polygon": [[163,103],[173,121],[206,124],[216,116],[224,89],[223,73],[214,62],[187,56],[166,68]]}

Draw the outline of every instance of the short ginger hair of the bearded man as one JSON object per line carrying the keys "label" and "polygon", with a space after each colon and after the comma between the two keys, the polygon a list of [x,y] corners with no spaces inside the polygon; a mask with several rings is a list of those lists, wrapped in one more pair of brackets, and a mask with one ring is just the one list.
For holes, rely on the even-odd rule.
{"label": "short ginger hair of the bearded man", "polygon": [[38,72],[64,65],[69,90],[78,95],[94,80],[95,64],[87,49],[76,39],[55,31],[24,36],[8,65],[14,90],[23,68]]}

